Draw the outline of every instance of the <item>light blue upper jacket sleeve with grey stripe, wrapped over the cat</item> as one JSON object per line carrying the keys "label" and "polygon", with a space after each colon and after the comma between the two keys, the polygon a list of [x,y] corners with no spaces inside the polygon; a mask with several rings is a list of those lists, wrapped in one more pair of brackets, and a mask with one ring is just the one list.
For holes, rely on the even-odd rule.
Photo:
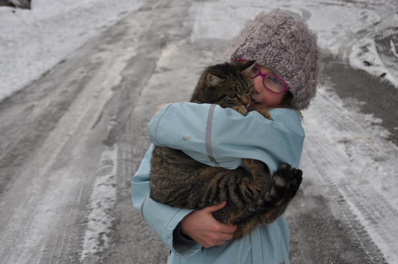
{"label": "light blue upper jacket sleeve with grey stripe, wrapped over the cat", "polygon": [[216,167],[235,169],[242,158],[261,160],[271,172],[282,162],[298,167],[304,130],[297,111],[273,109],[270,114],[272,120],[256,111],[242,116],[219,105],[171,103],[150,120],[149,138]]}

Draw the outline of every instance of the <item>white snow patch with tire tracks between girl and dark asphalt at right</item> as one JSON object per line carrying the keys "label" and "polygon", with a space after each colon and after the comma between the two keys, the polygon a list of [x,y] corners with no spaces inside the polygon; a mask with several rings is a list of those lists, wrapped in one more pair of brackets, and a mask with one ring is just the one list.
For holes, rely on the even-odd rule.
{"label": "white snow patch with tire tracks between girl and dark asphalt at right", "polygon": [[[327,85],[332,84],[326,83],[324,87]],[[393,196],[396,186],[388,186],[388,182],[397,177],[398,148],[382,138],[388,133],[378,128],[379,120],[347,110],[326,89],[318,92],[306,113],[303,154],[312,157],[309,162],[316,165],[320,179],[347,200],[386,259],[395,263],[398,260],[398,211]],[[383,190],[388,187],[391,189]],[[349,223],[347,208],[339,210]],[[367,234],[355,232],[358,241],[369,240]],[[371,244],[361,242],[361,245],[368,252],[375,252]]]}

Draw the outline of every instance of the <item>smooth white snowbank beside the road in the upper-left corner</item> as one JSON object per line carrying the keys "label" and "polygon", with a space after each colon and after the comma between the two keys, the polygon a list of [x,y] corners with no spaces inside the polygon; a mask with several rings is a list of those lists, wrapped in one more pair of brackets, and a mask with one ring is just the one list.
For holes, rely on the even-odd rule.
{"label": "smooth white snowbank beside the road in the upper-left corner", "polygon": [[0,7],[0,100],[140,6],[131,0],[35,0],[31,10]]}

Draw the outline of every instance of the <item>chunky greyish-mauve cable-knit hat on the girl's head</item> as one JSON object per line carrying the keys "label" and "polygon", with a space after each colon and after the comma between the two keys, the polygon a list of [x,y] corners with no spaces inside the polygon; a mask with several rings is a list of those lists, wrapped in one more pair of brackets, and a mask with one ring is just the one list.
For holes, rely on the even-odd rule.
{"label": "chunky greyish-mauve cable-knit hat on the girl's head", "polygon": [[289,86],[291,105],[303,110],[316,93],[321,56],[316,40],[306,21],[277,8],[250,21],[232,40],[224,60],[256,60],[270,68]]}

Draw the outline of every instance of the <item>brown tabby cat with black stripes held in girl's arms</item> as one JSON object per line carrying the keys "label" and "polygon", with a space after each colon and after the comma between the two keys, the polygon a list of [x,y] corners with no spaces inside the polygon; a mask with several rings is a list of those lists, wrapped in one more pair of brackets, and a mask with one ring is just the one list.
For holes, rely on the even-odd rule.
{"label": "brown tabby cat with black stripes held in girl's arms", "polygon": [[[230,107],[246,115],[253,81],[254,60],[209,66],[203,72],[192,95],[193,103],[211,103]],[[265,118],[265,110],[258,111]],[[243,159],[252,174],[238,167],[234,170],[212,167],[192,159],[183,151],[156,146],[152,153],[150,196],[170,206],[198,209],[227,200],[215,219],[237,224],[233,239],[240,239],[258,225],[275,221],[295,196],[302,181],[302,171],[286,163],[271,177],[266,164]]]}

